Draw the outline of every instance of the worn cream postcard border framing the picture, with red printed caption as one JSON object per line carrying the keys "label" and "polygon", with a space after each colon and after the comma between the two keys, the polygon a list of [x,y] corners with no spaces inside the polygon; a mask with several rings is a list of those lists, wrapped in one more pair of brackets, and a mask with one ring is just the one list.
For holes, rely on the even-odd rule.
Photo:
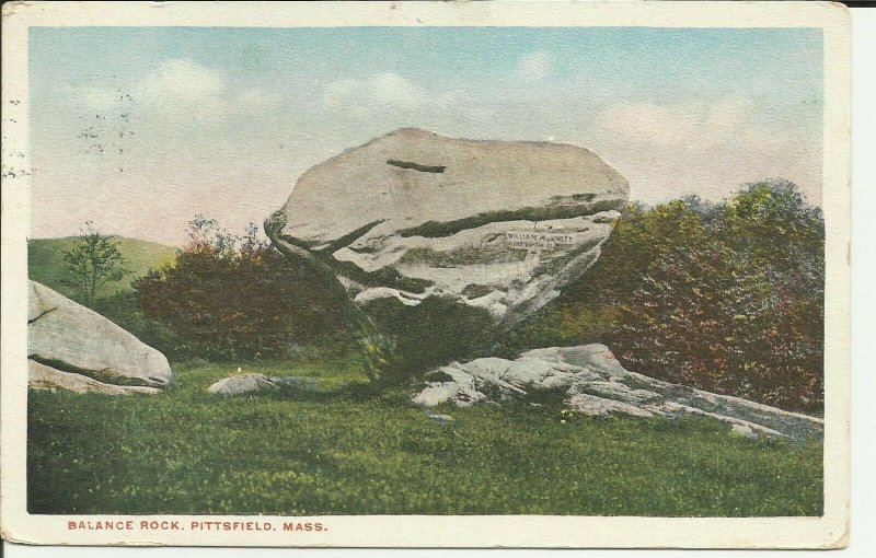
{"label": "worn cream postcard border framing the picture, with red printed caption", "polygon": [[[321,533],[82,532],[89,519],[256,521],[279,516],[31,515],[26,512],[26,236],[30,231],[27,36],[32,26],[652,26],[823,30],[826,221],[825,513],[820,518],[540,515],[310,516]],[[849,527],[850,18],[828,2],[9,2],[2,7],[2,339],[0,530],[55,545],[839,548]],[[10,101],[20,101],[12,105]],[[8,118],[12,117],[12,118]],[[23,153],[12,159],[12,152]]]}

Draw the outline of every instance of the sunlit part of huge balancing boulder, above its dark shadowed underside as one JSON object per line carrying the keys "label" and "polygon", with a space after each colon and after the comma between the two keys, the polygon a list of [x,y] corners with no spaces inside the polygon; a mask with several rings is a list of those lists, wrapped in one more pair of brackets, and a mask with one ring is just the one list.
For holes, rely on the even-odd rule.
{"label": "sunlit part of huge balancing boulder, above its dark shadowed underside", "polygon": [[486,311],[497,333],[596,261],[629,190],[583,148],[401,129],[306,172],[265,231],[357,304],[437,297]]}

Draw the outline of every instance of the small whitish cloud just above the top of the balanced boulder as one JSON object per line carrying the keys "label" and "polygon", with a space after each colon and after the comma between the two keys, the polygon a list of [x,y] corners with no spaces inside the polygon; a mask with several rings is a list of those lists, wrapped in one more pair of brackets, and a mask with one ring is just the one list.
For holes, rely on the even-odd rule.
{"label": "small whitish cloud just above the top of the balanced boulder", "polygon": [[426,90],[397,73],[374,73],[364,79],[338,80],[323,88],[323,103],[330,107],[383,106],[415,108],[429,101]]}

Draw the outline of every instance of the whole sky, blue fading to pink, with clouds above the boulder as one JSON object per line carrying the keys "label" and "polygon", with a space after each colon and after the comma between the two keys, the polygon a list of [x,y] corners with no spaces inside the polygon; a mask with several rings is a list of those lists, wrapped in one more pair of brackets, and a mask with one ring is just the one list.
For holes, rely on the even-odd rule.
{"label": "whole sky, blue fading to pink, with clouds above the boulder", "polygon": [[586,147],[631,199],[783,177],[821,198],[821,32],[648,27],[34,27],[32,236],[180,244],[413,126]]}

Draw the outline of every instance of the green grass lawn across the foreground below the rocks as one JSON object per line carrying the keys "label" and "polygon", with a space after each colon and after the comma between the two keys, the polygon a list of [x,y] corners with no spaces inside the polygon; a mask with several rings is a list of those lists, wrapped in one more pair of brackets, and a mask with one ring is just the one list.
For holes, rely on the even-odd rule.
{"label": "green grass lawn across the foreground below the rocks", "polygon": [[158,396],[32,391],[31,513],[819,515],[822,447],[710,419],[561,422],[560,406],[447,408],[368,394],[355,360],[243,364],[321,391],[224,398],[177,364]]}

